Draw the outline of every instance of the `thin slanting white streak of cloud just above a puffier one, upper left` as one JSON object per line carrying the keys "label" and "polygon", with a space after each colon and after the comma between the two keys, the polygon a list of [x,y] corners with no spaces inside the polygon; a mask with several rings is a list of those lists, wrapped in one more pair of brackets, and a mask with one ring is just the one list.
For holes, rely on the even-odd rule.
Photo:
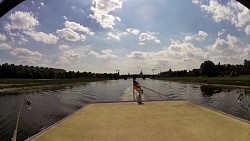
{"label": "thin slanting white streak of cloud just above a puffier one, upper left", "polygon": [[88,27],[84,27],[83,25],[79,24],[79,23],[76,23],[76,22],[70,22],[70,21],[66,21],[64,23],[64,26],[66,28],[70,28],[74,31],[81,31],[81,32],[84,32],[84,33],[87,33],[89,35],[93,35],[94,32],[90,32],[90,29]]}

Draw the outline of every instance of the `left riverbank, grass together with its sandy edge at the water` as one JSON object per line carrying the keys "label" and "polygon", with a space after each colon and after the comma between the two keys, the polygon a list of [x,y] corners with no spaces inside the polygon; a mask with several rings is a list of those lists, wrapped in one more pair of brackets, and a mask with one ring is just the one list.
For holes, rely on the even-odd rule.
{"label": "left riverbank, grass together with its sandy edge at the water", "polygon": [[107,78],[85,79],[0,79],[0,92],[27,89],[60,87],[94,81],[109,80]]}

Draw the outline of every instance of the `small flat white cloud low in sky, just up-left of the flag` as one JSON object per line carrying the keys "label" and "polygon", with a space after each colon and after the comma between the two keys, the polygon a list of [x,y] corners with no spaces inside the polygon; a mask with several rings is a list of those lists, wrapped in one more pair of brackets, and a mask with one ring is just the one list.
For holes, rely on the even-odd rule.
{"label": "small flat white cloud low in sky, just up-left of the flag", "polygon": [[92,50],[88,54],[91,55],[91,56],[94,56],[96,58],[103,58],[103,59],[117,58],[117,56],[110,49],[103,50],[100,53],[95,52],[95,51]]}

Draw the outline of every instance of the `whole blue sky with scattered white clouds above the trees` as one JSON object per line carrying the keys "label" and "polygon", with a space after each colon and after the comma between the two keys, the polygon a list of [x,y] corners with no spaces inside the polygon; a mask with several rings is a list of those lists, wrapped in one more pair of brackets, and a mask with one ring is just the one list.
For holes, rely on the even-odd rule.
{"label": "whole blue sky with scattered white clouds above the trees", "polygon": [[235,0],[26,0],[0,19],[0,64],[152,74],[245,59],[250,10]]}

